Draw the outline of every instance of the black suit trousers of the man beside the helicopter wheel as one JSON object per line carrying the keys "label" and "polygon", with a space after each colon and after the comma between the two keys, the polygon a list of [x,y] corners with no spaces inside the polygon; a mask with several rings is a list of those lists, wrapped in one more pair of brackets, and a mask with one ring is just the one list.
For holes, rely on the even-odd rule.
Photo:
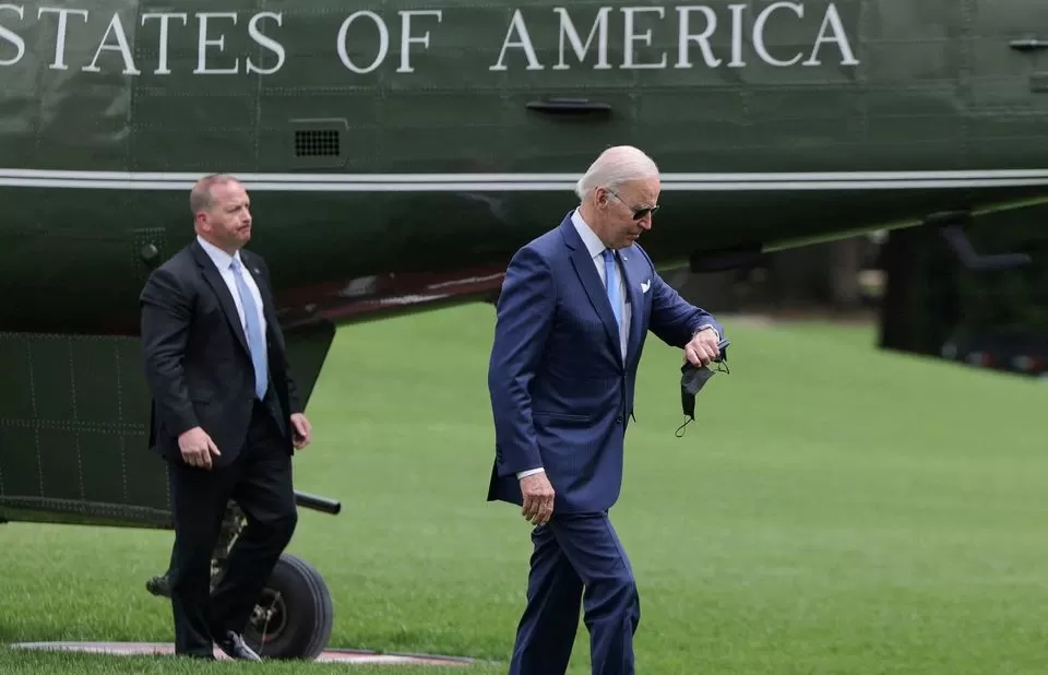
{"label": "black suit trousers of the man beside the helicopter wheel", "polygon": [[[233,462],[211,470],[181,461],[169,464],[175,520],[170,588],[177,654],[210,656],[214,638],[226,630],[242,632],[291,540],[298,513],[291,458],[282,443],[270,406],[255,401],[247,439]],[[211,592],[212,555],[230,498],[248,522]]]}

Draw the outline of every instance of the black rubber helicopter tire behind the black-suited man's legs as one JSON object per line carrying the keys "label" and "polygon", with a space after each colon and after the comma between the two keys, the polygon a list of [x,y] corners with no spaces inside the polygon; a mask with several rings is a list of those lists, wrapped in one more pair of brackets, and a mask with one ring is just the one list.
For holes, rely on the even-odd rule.
{"label": "black rubber helicopter tire behind the black-suited man's legs", "polygon": [[312,661],[327,647],[333,624],[331,594],[320,572],[285,553],[262,590],[243,639],[263,659]]}

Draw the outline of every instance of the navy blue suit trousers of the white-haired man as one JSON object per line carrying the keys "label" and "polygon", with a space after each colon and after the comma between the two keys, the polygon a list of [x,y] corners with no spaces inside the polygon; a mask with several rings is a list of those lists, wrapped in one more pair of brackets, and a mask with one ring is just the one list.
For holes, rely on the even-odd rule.
{"label": "navy blue suit trousers of the white-haired man", "polygon": [[590,631],[593,675],[633,675],[640,597],[607,512],[553,513],[532,532],[527,606],[510,675],[563,675],[579,627]]}

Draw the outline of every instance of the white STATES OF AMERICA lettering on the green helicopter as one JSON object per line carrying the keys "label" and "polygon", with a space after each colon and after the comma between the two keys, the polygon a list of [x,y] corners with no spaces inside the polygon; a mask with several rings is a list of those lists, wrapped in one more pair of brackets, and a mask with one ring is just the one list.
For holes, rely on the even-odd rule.
{"label": "white STATES OF AMERICA lettering on the green helicopter", "polygon": [[[575,9],[535,8],[527,12],[507,10],[509,19],[504,33],[478,34],[476,40],[480,54],[491,55],[489,71],[508,70],[593,70],[620,69],[689,69],[746,68],[753,62],[778,68],[814,67],[823,63],[857,66],[855,49],[848,39],[844,23],[833,2],[813,5],[803,2],[772,2],[757,8],[743,3],[686,4],[675,7],[600,7]],[[461,12],[469,21],[467,9],[402,10],[374,12],[359,10],[340,21],[324,20],[318,31],[331,32],[331,45],[336,62],[358,74],[373,72],[383,66],[397,73],[416,72],[413,56],[439,44],[441,28],[449,23],[445,14]],[[294,58],[288,56],[288,39],[282,39],[282,29],[288,21],[314,22],[314,17],[283,12],[145,12],[136,20],[120,13],[106,12],[106,27],[97,38],[74,35],[79,45],[91,44],[93,56],[75,59],[68,54],[67,44],[72,32],[99,26],[100,10],[75,8],[33,7],[0,2],[0,67],[15,66],[25,57],[26,24],[38,23],[40,37],[31,40],[50,40],[53,50],[41,54],[51,70],[79,69],[83,72],[120,72],[126,75],[141,74],[143,69],[156,75],[172,71],[169,49],[172,39],[188,39],[179,35],[190,31],[195,46],[195,67],[192,74],[261,74],[278,72]],[[92,16],[94,13],[94,16]],[[809,15],[810,14],[810,15]],[[586,16],[585,20],[580,19]],[[751,21],[752,19],[752,21]],[[132,50],[128,38],[128,22],[138,21],[143,28],[155,26],[155,37],[143,37],[134,23],[130,33],[138,33],[139,43]],[[49,24],[47,22],[50,22]],[[802,23],[798,23],[802,22]],[[486,22],[487,23],[487,20]],[[335,27],[337,25],[337,28]],[[536,29],[534,26],[539,25]],[[549,29],[556,25],[556,33]],[[818,27],[817,27],[818,26]],[[767,36],[773,33],[796,36],[810,28],[807,49],[797,46],[772,47]],[[461,29],[461,28],[460,28]],[[616,34],[612,36],[612,29]],[[235,32],[246,31],[251,40],[250,52],[234,54],[227,49],[228,42],[240,37]],[[667,33],[668,32],[668,33]],[[478,32],[479,33],[479,32]],[[552,36],[556,34],[556,38]],[[662,34],[662,35],[660,35]],[[310,51],[315,48],[320,34],[308,35]],[[655,49],[654,44],[665,44],[666,36],[674,36],[674,46]],[[662,38],[662,39],[659,39]],[[714,47],[715,38],[716,48]],[[145,43],[148,39],[150,43]],[[156,44],[152,44],[152,40]],[[549,54],[546,39],[556,39],[557,58],[539,59],[539,54]],[[48,44],[45,42],[44,44]],[[181,42],[177,43],[181,46]],[[391,44],[398,49],[391,49]],[[550,44],[551,46],[551,44]],[[642,56],[642,50],[646,52]],[[497,52],[496,52],[497,50]],[[138,52],[138,60],[135,54]],[[391,54],[392,51],[392,54]],[[85,50],[80,51],[84,56]],[[615,62],[612,54],[618,57]],[[696,58],[698,57],[698,58]],[[142,62],[148,59],[148,63]],[[82,60],[85,62],[75,62]]]}

